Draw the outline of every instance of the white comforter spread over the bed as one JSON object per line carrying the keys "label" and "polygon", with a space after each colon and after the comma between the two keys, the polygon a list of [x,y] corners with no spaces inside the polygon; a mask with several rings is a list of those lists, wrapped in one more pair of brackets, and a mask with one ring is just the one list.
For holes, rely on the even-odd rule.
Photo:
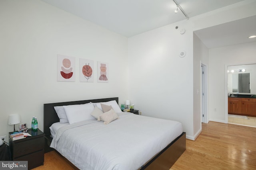
{"label": "white comforter spread over the bed", "polygon": [[177,121],[119,115],[107,125],[89,120],[60,127],[50,147],[82,170],[135,170],[182,133]]}

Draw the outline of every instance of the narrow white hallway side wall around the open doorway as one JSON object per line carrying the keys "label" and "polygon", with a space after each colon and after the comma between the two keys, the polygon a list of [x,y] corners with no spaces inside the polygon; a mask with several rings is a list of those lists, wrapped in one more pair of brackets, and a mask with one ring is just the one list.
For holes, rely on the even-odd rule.
{"label": "narrow white hallway side wall around the open doorway", "polygon": [[[202,70],[201,70],[201,64],[204,64],[206,67],[205,74],[206,74],[206,85],[207,83],[207,68],[208,68],[208,57],[209,57],[209,49],[202,43],[202,41],[196,36],[196,34],[193,34],[193,120],[194,120],[194,134],[198,135],[202,130]],[[206,90],[206,97],[207,97],[207,89]],[[207,108],[207,104],[206,104]],[[206,116],[206,119],[208,117]],[[207,121],[207,120],[206,120]],[[199,130],[198,130],[199,129]],[[198,131],[196,131],[198,130]]]}

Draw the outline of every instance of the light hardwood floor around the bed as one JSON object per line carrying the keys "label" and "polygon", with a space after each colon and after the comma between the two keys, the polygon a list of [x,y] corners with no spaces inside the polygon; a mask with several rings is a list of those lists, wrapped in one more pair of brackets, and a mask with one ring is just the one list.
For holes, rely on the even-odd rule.
{"label": "light hardwood floor around the bed", "polygon": [[[56,152],[45,155],[34,170],[73,170]],[[186,151],[170,170],[256,170],[256,128],[202,123],[196,141],[186,140]]]}

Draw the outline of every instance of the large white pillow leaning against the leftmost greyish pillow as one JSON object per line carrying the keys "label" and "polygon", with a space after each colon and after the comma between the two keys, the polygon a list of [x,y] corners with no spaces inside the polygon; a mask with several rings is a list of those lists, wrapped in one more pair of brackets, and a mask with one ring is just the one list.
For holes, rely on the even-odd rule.
{"label": "large white pillow leaning against the leftmost greyish pillow", "polygon": [[68,118],[69,124],[79,121],[94,119],[91,113],[94,110],[93,104],[80,104],[63,106]]}

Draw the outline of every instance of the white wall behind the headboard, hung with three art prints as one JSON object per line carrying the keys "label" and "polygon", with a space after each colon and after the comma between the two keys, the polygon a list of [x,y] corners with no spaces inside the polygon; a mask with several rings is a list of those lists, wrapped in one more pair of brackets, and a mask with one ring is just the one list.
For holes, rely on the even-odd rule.
{"label": "white wall behind the headboard, hung with three art prints", "polygon": [[[0,23],[0,136],[12,113],[43,130],[44,103],[126,99],[126,37],[39,0],[1,0]],[[57,54],[76,57],[75,82],[57,81]],[[80,82],[79,58],[109,63],[109,82]]]}

